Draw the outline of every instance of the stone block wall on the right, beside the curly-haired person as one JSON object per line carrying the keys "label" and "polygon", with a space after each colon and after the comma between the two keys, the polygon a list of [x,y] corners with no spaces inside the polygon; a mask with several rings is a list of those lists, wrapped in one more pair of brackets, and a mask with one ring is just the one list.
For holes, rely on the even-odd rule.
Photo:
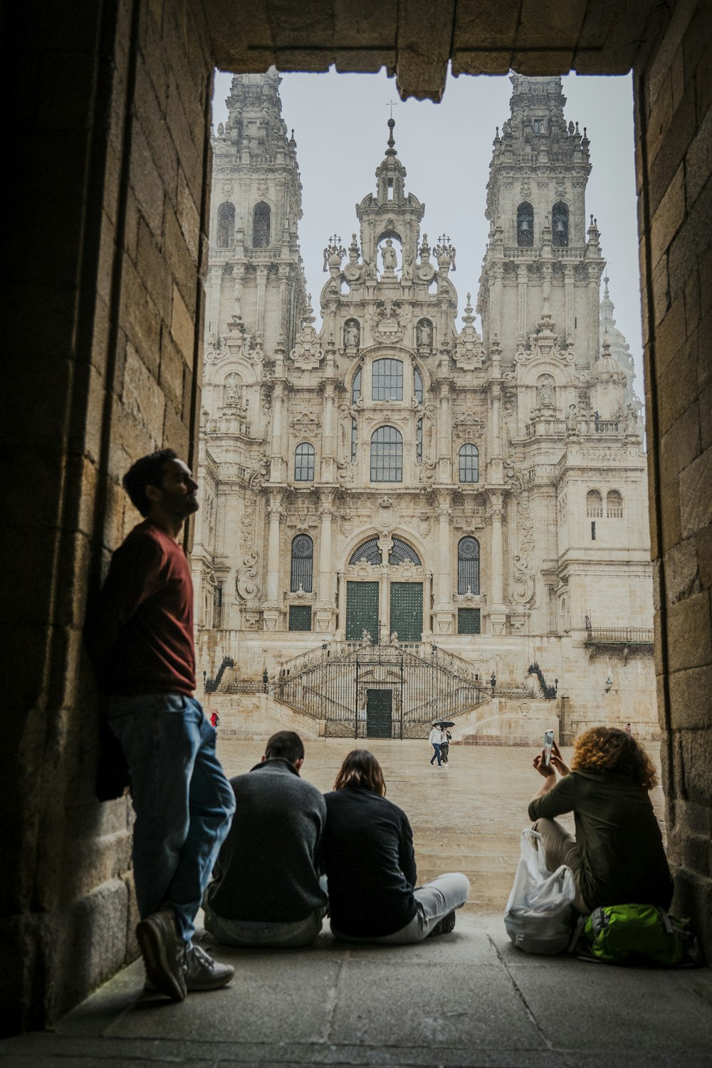
{"label": "stone block wall on the right, beside the curly-haired person", "polygon": [[655,561],[658,707],[674,909],[712,949],[712,18],[680,0],[635,69]]}

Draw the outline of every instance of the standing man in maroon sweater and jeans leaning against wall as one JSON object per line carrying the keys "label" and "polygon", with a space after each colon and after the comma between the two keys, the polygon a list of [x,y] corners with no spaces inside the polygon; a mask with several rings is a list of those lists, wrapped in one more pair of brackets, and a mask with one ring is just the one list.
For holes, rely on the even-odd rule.
{"label": "standing man in maroon sweater and jeans leaning against wall", "polygon": [[124,488],[144,520],[112,557],[86,640],[128,764],[136,933],[148,984],[181,1001],[235,971],[192,942],[235,800],[215,727],[193,697],[193,588],[178,536],[197,509],[197,483],[164,449],[137,460]]}

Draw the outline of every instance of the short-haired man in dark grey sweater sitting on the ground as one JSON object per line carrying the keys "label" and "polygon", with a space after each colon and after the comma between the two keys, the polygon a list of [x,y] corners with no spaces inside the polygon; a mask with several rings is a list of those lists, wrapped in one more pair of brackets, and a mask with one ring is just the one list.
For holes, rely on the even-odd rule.
{"label": "short-haired man in dark grey sweater sitting on the ground", "polygon": [[260,764],[231,780],[237,808],[204,899],[205,926],[224,945],[308,945],[321,930],[322,795],[300,778],[294,731],[267,742]]}

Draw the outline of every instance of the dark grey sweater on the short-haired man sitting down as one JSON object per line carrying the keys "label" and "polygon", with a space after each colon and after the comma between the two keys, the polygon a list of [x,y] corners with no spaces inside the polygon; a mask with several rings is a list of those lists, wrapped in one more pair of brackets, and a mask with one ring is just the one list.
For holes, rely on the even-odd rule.
{"label": "dark grey sweater on the short-haired man sitting down", "polygon": [[207,899],[224,920],[297,923],[327,904],[319,885],[323,797],[275,757],[231,779],[237,806]]}

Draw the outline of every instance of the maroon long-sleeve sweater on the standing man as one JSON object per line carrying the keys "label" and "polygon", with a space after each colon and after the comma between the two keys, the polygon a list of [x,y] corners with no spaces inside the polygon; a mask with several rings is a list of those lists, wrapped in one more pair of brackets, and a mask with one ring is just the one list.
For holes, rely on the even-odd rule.
{"label": "maroon long-sleeve sweater on the standing man", "polygon": [[114,552],[86,641],[105,693],[192,695],[188,561],[181,547],[149,519],[135,527]]}

